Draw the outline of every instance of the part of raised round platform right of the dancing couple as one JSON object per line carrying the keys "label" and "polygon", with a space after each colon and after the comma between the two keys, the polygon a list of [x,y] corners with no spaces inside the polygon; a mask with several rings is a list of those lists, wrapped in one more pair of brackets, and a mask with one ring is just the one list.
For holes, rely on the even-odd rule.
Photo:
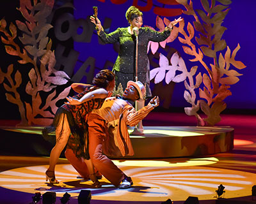
{"label": "part of raised round platform right of the dancing couple", "polygon": [[131,135],[132,158],[202,156],[234,148],[230,127],[144,127],[143,136]]}

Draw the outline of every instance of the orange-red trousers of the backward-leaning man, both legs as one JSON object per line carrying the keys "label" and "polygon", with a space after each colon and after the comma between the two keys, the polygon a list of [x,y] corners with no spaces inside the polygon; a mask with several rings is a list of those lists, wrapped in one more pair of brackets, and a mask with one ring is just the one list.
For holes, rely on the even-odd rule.
{"label": "orange-red trousers of the backward-leaning man, both legs", "polygon": [[[90,159],[95,169],[102,173],[111,184],[118,187],[127,176],[102,152],[104,138],[108,136],[108,126],[102,117],[93,113],[88,115],[88,126]],[[77,158],[71,149],[66,150],[65,156],[84,179],[88,178],[89,171],[82,159]]]}

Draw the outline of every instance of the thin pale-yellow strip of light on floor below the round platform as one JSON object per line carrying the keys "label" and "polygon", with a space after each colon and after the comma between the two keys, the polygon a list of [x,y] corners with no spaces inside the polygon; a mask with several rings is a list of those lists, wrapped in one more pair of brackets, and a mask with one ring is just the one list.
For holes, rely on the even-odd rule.
{"label": "thin pale-yellow strip of light on floor below the round platform", "polygon": [[113,161],[118,166],[200,166],[217,163],[219,160],[215,157],[199,158],[199,159],[188,159],[180,162],[175,162],[173,159],[172,163],[169,161],[156,161],[156,160],[126,160],[126,161]]}

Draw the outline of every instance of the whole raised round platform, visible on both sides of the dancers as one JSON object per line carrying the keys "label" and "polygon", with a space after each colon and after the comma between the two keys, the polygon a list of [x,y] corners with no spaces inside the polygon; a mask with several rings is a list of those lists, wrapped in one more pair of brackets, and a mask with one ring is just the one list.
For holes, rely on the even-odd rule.
{"label": "whole raised round platform, visible on both sides of the dancers", "polygon": [[[33,154],[49,156],[53,143],[46,142],[41,131],[42,127],[1,126],[1,139],[10,144],[3,151],[21,154],[30,150]],[[144,133],[130,135],[135,154],[120,159],[204,156],[227,152],[234,147],[234,128],[230,127],[145,126]]]}

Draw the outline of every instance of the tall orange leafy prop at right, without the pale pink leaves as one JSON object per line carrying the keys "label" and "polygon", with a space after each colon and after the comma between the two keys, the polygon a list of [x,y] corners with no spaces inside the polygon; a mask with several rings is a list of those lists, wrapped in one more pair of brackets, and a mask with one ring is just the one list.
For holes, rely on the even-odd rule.
{"label": "tall orange leafy prop at right, without the pale pink leaves", "polygon": [[[195,58],[190,61],[199,61],[207,71],[207,73],[204,73],[202,80],[204,83],[204,90],[200,89],[199,91],[200,98],[204,98],[207,101],[205,102],[203,99],[199,100],[200,108],[207,117],[203,120],[198,117],[195,113],[198,106],[195,107],[195,110],[195,108],[193,108],[193,103],[191,103],[192,109],[185,108],[185,110],[188,115],[196,115],[198,125],[214,126],[214,124],[220,122],[220,113],[225,110],[227,106],[223,100],[227,98],[227,96],[231,95],[230,90],[228,90],[230,85],[236,84],[239,81],[238,76],[241,75],[236,70],[231,70],[230,64],[237,69],[243,69],[246,67],[243,62],[235,61],[234,59],[240,48],[239,44],[230,57],[230,48],[227,47],[226,41],[221,39],[224,31],[227,29],[226,27],[221,26],[221,24],[228,13],[228,5],[231,1],[218,0],[218,2],[220,2],[218,5],[216,5],[216,1],[211,1],[210,6],[209,1],[202,0],[201,3],[204,11],[193,10],[192,1],[190,1],[189,4],[188,1],[184,0],[177,0],[177,2],[185,6],[185,14],[193,15],[193,17],[195,17],[194,27],[200,36],[199,38],[196,37],[195,40],[200,48],[198,48],[198,52],[196,52],[196,46],[191,42],[191,39],[194,38],[195,30],[190,23],[188,23],[187,26],[189,35],[184,31],[182,23],[180,24],[179,32],[184,36],[184,38],[179,37],[179,41],[189,46],[183,46],[183,50],[186,54],[195,56]],[[203,23],[200,22],[196,12]],[[223,55],[218,53],[225,48],[227,48],[227,52],[224,59]],[[211,57],[213,64],[207,66],[206,62],[203,60],[205,56]],[[188,94],[186,95],[188,96]]]}

